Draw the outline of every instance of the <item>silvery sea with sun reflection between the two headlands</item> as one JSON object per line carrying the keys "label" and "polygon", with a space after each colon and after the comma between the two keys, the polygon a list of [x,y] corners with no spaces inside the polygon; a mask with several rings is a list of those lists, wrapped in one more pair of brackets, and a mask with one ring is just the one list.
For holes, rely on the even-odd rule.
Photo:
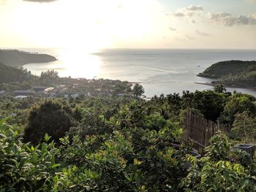
{"label": "silvery sea with sun reflection between the two headlands", "polygon": [[[28,49],[26,49],[28,50]],[[105,78],[140,82],[148,97],[161,93],[182,93],[211,89],[195,82],[211,82],[212,79],[197,77],[211,64],[226,60],[256,60],[256,50],[146,50],[118,49],[99,50],[89,53],[83,50],[29,49],[56,56],[58,61],[23,66],[33,74],[54,69],[61,77]],[[227,88],[256,96],[255,90]]]}

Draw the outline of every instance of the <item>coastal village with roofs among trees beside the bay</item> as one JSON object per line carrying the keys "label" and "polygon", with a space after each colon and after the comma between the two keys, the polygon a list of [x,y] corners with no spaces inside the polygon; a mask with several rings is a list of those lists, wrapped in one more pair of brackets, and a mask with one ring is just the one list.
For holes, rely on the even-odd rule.
{"label": "coastal village with roofs among trees beside the bay", "polygon": [[132,96],[132,83],[120,80],[86,80],[72,79],[75,83],[55,86],[34,85],[29,89],[0,91],[0,96],[13,96],[15,99],[24,99],[28,96],[45,98],[77,99],[88,96]]}

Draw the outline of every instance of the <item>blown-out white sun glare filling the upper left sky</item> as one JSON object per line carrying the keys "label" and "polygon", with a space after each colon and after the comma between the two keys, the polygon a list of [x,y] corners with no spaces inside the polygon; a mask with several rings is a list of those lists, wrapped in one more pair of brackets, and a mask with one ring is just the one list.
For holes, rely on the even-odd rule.
{"label": "blown-out white sun glare filling the upper left sky", "polygon": [[8,28],[15,31],[12,37],[24,39],[20,42],[23,47],[83,47],[91,51],[135,40],[148,42],[149,37],[143,39],[148,31],[154,35],[160,29],[155,13],[161,7],[155,0],[19,1],[10,7]]}

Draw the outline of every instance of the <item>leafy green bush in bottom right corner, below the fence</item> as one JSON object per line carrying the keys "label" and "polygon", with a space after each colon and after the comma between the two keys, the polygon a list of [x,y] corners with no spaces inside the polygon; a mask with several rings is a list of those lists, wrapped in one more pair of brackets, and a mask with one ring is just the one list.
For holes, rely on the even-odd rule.
{"label": "leafy green bush in bottom right corner, below the fence", "polygon": [[211,138],[206,151],[200,160],[188,155],[191,168],[179,188],[184,191],[256,191],[256,166],[249,154],[230,150],[227,137],[220,134]]}

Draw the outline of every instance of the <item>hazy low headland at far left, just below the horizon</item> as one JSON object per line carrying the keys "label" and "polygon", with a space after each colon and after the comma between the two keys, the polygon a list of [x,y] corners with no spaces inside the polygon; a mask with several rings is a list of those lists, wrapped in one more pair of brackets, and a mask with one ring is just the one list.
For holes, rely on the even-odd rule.
{"label": "hazy low headland at far left, just below the horizon", "polygon": [[0,50],[0,63],[19,67],[31,63],[47,63],[56,61],[52,55],[29,53],[20,50]]}

